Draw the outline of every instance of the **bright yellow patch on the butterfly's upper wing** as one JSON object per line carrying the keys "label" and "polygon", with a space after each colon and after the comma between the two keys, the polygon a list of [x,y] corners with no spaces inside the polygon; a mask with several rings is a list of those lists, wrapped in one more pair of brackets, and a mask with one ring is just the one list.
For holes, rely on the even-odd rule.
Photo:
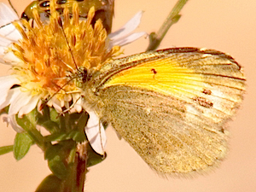
{"label": "bright yellow patch on the butterfly's upper wing", "polygon": [[172,58],[164,58],[145,61],[113,75],[105,87],[113,85],[130,85],[165,95],[173,95],[177,89],[180,94],[189,94],[183,90],[201,90],[203,79],[192,69],[179,67],[177,61]]}

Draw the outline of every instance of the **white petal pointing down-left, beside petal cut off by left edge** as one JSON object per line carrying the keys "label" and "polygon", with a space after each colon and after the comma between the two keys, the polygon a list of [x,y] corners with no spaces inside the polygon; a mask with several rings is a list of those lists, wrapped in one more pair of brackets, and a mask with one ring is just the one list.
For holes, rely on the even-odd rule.
{"label": "white petal pointing down-left, beside petal cut off by left edge", "polygon": [[32,99],[32,95],[30,91],[24,92],[20,90],[20,93],[15,97],[14,101],[11,102],[9,105],[9,115],[18,113],[20,111],[20,108],[22,108],[23,106],[26,106],[26,104],[30,102],[31,99]]}

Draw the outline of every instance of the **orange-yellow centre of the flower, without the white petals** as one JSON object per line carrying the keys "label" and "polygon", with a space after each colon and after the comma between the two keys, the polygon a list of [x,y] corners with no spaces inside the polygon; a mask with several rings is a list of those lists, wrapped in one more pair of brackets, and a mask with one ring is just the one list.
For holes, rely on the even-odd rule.
{"label": "orange-yellow centre of the flower, without the white petals", "polygon": [[107,32],[101,20],[94,26],[91,20],[95,15],[91,8],[87,20],[79,20],[79,7],[73,3],[73,17],[64,9],[61,19],[55,11],[54,3],[50,6],[49,23],[40,20],[38,12],[33,12],[35,26],[21,20],[22,26],[15,22],[22,39],[14,44],[13,53],[21,62],[13,67],[14,73],[22,82],[25,90],[33,90],[44,97],[64,96],[67,92],[79,91],[71,77],[83,67],[99,69],[119,54],[119,46],[108,48]]}

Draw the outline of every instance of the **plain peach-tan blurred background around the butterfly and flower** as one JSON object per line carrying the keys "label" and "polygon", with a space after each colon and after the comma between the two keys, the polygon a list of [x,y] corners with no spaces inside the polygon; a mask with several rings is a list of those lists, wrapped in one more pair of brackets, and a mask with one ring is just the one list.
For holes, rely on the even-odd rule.
{"label": "plain peach-tan blurred background around the butterfly and flower", "polygon": [[[15,0],[13,0],[15,1]],[[19,13],[29,0],[16,1]],[[138,31],[157,30],[176,0],[118,0],[113,29],[143,10]],[[108,129],[108,158],[90,168],[85,183],[88,192],[155,191],[256,191],[256,1],[191,0],[183,17],[168,32],[160,48],[207,47],[233,55],[247,74],[247,95],[235,121],[230,122],[230,154],[220,168],[193,179],[162,178],[143,162],[125,141]],[[148,39],[125,47],[125,55],[143,52]],[[7,67],[1,65],[2,74]],[[1,120],[2,121],[2,120]],[[0,145],[13,143],[15,132],[1,122]],[[0,190],[29,192],[49,174],[44,154],[32,147],[26,158],[16,162],[12,154],[0,156]]]}

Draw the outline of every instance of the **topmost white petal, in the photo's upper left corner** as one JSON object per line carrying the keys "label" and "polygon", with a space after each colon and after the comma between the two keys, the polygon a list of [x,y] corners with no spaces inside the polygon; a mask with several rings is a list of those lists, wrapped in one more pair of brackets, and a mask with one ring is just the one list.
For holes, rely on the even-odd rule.
{"label": "topmost white petal, in the photo's upper left corner", "polygon": [[14,20],[19,20],[15,11],[5,3],[0,3],[0,26],[4,26]]}

